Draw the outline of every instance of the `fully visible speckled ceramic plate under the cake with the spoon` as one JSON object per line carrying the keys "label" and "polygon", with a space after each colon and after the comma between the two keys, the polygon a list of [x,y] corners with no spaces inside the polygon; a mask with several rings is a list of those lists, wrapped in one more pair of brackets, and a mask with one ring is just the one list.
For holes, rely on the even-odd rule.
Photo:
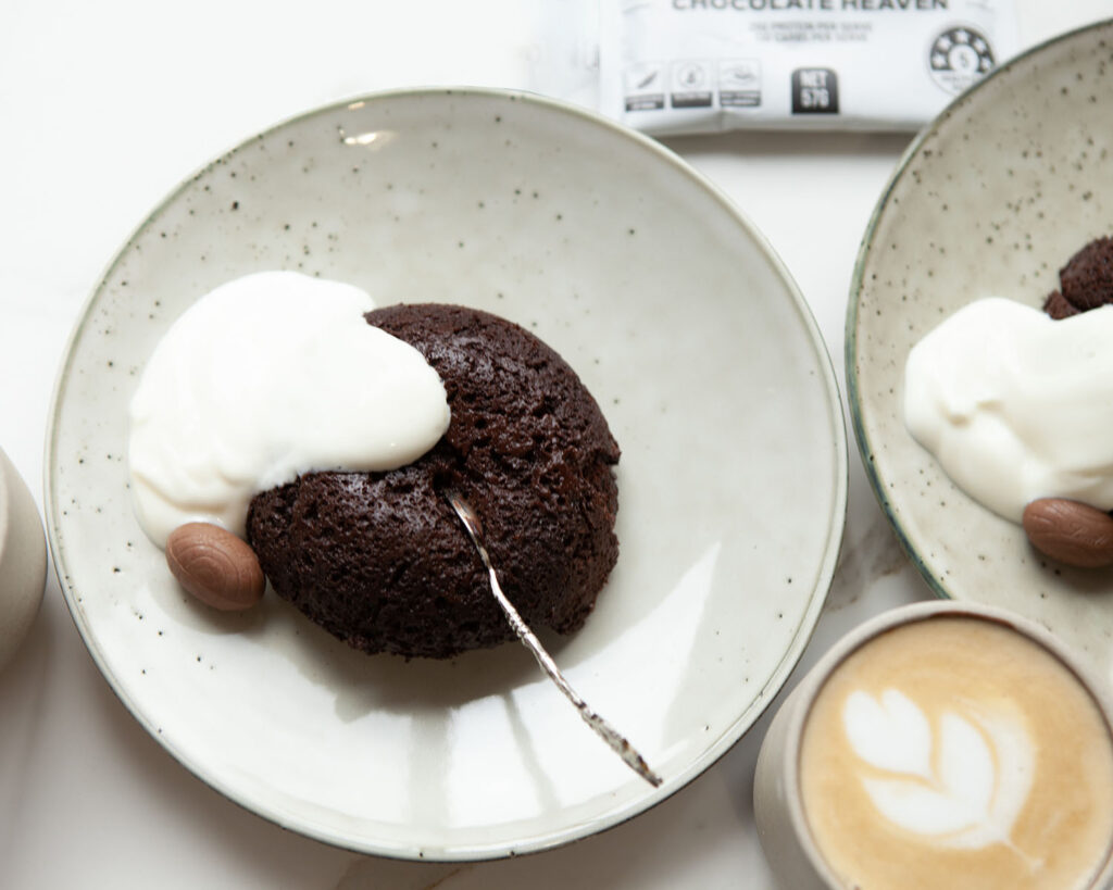
{"label": "fully visible speckled ceramic plate under the cake with the spoon", "polygon": [[[183,594],[128,501],[127,405],[187,306],[275,267],[383,305],[493,310],[581,375],[622,446],[621,554],[587,626],[548,642],[661,788],[516,644],[452,662],[367,657],[273,595],[220,615]],[[807,643],[846,504],[830,363],[761,236],[657,142],[492,91],[325,108],[189,178],[79,322],[47,464],[62,590],[137,719],[245,807],[414,859],[563,843],[707,769]]]}

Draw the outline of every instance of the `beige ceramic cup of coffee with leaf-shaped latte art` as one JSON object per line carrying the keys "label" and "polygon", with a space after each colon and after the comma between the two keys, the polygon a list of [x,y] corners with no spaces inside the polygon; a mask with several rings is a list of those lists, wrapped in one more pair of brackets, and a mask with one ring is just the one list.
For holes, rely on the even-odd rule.
{"label": "beige ceramic cup of coffee with leaf-shaped latte art", "polygon": [[904,606],[789,695],[754,805],[786,889],[1109,888],[1113,710],[1033,622]]}

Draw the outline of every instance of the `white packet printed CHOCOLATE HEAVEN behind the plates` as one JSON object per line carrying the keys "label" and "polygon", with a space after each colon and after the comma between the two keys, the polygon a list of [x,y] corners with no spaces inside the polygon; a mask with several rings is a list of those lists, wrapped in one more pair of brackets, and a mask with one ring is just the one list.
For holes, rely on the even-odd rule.
{"label": "white packet printed CHOCOLATE HEAVEN behind the plates", "polygon": [[600,102],[653,135],[915,130],[1017,49],[1012,0],[601,0]]}

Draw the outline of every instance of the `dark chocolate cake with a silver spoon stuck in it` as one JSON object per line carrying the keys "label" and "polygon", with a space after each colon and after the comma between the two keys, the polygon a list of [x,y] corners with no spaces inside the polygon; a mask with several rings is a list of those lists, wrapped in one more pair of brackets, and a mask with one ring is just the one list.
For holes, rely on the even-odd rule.
{"label": "dark chocolate cake with a silver spoon stuck in it", "polygon": [[452,419],[407,466],[309,473],[256,495],[247,537],[275,592],[368,653],[444,659],[514,639],[444,498],[455,488],[522,617],[578,630],[618,558],[619,447],[594,398],[555,352],[489,313],[425,304],[366,318],[425,356]]}

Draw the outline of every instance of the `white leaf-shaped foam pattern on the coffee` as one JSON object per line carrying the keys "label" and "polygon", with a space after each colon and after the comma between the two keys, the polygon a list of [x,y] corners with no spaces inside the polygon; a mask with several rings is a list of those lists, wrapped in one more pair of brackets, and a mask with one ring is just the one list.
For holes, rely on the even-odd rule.
{"label": "white leaf-shaped foam pattern on the coffee", "polygon": [[1020,714],[963,710],[933,724],[899,690],[878,699],[859,690],[847,696],[843,724],[861,783],[890,822],[949,848],[1013,847],[1035,771],[1032,738]]}

